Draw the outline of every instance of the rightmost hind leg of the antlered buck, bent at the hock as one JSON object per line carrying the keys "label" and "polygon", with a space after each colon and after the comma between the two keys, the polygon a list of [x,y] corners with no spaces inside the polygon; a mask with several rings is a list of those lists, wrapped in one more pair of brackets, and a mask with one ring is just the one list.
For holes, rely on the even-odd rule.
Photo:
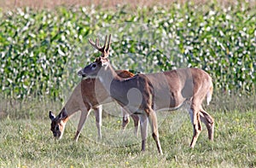
{"label": "rightmost hind leg of the antlered buck, bent at the hock", "polygon": [[200,119],[207,126],[209,140],[213,141],[214,119],[202,107],[200,108]]}

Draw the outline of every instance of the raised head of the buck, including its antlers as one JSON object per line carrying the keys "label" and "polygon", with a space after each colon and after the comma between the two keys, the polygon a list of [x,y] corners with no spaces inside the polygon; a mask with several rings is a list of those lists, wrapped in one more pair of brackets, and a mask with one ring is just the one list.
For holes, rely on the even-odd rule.
{"label": "raised head of the buck, including its antlers", "polygon": [[106,38],[105,38],[105,43],[104,43],[103,47],[100,46],[98,38],[96,38],[96,43],[92,42],[92,40],[89,38],[89,43],[94,48],[99,50],[102,53],[102,55],[100,57],[96,58],[96,61],[92,62],[90,65],[81,69],[78,72],[79,76],[96,78],[96,76],[100,70],[104,70],[104,68],[108,67],[108,65],[109,65],[108,55],[109,55],[109,49],[110,49],[111,34],[109,35],[108,45],[106,46],[107,38],[108,38],[108,36],[106,36]]}

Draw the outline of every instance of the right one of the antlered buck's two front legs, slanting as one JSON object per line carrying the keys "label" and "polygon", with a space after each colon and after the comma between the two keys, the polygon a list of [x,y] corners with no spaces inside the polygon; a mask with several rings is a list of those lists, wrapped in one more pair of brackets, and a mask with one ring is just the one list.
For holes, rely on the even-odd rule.
{"label": "right one of the antlered buck's two front legs, slanting", "polygon": [[154,110],[150,110],[149,115],[148,115],[148,120],[149,120],[149,123],[151,126],[152,136],[154,138],[154,142],[156,143],[157,150],[160,154],[163,154],[162,148],[160,145],[160,140],[159,140],[157,117],[156,117],[156,113]]}

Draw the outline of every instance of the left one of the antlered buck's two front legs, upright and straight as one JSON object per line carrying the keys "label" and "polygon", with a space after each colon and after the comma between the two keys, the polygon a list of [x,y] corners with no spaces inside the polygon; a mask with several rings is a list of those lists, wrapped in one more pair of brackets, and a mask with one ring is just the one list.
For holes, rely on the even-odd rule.
{"label": "left one of the antlered buck's two front legs, upright and straight", "polygon": [[148,136],[148,117],[146,114],[139,114],[142,136],[142,151],[145,151],[146,139]]}

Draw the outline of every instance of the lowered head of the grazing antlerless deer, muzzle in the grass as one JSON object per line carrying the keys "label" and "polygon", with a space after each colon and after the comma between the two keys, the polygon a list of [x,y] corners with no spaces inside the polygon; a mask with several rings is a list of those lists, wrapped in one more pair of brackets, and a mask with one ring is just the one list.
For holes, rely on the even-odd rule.
{"label": "lowered head of the grazing antlerless deer, muzzle in the grass", "polygon": [[61,139],[66,125],[66,110],[62,110],[61,113],[57,115],[57,117],[55,117],[55,114],[49,111],[49,119],[51,120],[50,130],[52,131],[56,139]]}

